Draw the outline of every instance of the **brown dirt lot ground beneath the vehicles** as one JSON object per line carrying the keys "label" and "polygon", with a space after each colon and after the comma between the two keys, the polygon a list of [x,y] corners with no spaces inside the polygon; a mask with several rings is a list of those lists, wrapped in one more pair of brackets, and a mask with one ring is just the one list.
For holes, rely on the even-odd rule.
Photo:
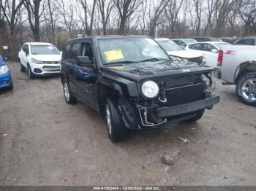
{"label": "brown dirt lot ground beneath the vehicles", "polygon": [[[241,104],[234,86],[217,81],[221,102],[199,122],[112,144],[103,117],[65,103],[59,77],[29,80],[18,63],[9,65],[14,89],[0,92],[0,185],[255,185],[256,108]],[[174,165],[161,163],[165,152]]]}

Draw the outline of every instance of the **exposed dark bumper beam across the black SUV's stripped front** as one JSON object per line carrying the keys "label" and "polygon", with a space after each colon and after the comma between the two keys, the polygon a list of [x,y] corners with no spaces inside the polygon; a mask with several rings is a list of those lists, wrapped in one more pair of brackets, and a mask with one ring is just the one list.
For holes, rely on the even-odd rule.
{"label": "exposed dark bumper beam across the black SUV's stripped front", "polygon": [[211,109],[212,106],[219,103],[219,95],[211,95],[200,101],[194,101],[189,104],[178,106],[160,107],[157,109],[159,117],[171,117],[178,114],[196,112],[201,109]]}

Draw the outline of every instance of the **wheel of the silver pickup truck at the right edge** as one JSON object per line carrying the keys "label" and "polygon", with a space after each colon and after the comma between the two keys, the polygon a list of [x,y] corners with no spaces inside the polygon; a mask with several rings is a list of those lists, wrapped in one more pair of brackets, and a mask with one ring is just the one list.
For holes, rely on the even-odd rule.
{"label": "wheel of the silver pickup truck at the right edge", "polygon": [[256,106],[256,72],[248,72],[238,79],[236,95],[247,105]]}

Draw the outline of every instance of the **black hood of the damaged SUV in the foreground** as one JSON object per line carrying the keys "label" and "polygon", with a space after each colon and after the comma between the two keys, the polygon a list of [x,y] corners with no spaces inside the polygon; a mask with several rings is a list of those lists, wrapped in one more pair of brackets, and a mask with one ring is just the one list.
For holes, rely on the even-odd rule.
{"label": "black hood of the damaged SUV in the foreground", "polygon": [[184,75],[195,71],[213,70],[211,67],[204,66],[200,63],[172,60],[104,66],[101,69],[109,74],[118,75],[119,77],[125,77],[138,82],[142,79],[151,77],[163,77],[174,74]]}

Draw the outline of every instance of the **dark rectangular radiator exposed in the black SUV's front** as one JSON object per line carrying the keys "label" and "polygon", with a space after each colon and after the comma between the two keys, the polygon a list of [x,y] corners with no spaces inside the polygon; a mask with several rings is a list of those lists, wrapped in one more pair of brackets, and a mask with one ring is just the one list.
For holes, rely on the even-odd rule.
{"label": "dark rectangular radiator exposed in the black SUV's front", "polygon": [[204,98],[203,84],[187,85],[165,90],[167,106],[187,104]]}

